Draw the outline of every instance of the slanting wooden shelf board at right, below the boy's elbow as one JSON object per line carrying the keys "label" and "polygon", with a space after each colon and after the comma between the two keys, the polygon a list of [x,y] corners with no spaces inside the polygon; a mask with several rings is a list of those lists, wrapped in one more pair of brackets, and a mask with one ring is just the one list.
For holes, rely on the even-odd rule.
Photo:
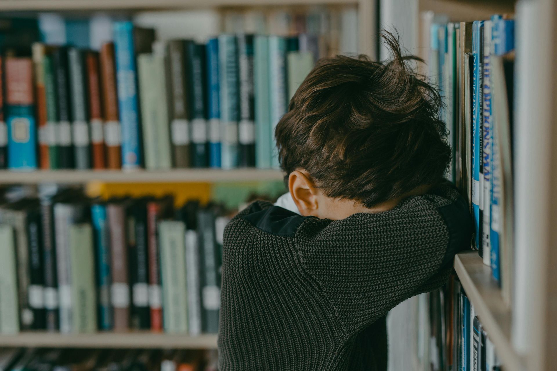
{"label": "slanting wooden shelf board at right, below the boy's elbow", "polygon": [[511,344],[511,310],[491,276],[491,268],[483,264],[477,251],[467,251],[456,256],[455,270],[505,370],[524,371],[524,359]]}

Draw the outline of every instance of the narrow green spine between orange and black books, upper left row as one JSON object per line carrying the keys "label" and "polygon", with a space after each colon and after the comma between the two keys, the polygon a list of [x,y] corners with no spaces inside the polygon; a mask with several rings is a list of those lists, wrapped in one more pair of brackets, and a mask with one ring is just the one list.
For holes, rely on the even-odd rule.
{"label": "narrow green spine between orange and black books, upper left row", "polygon": [[57,125],[58,125],[58,107],[56,106],[56,76],[54,70],[54,62],[52,55],[45,55],[43,57],[43,69],[45,75],[45,100],[46,100],[46,141],[48,142],[48,159],[50,169],[58,169],[60,164],[58,160],[57,144]]}

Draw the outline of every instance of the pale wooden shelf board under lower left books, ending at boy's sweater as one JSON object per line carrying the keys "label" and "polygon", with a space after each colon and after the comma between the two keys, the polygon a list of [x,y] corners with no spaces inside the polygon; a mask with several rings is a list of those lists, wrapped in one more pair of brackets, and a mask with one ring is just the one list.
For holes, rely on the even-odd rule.
{"label": "pale wooden shelf board under lower left books, ending at boy's sweater", "polygon": [[24,332],[0,335],[0,347],[216,349],[217,335],[189,336],[151,332],[95,334]]}

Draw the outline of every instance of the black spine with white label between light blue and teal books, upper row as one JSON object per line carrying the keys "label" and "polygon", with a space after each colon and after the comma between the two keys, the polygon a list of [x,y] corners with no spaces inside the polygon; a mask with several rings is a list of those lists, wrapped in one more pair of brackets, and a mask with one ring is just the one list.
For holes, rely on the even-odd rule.
{"label": "black spine with white label between light blue and teal books, upper row", "polygon": [[255,107],[253,92],[253,35],[238,36],[240,75],[240,166],[255,166]]}

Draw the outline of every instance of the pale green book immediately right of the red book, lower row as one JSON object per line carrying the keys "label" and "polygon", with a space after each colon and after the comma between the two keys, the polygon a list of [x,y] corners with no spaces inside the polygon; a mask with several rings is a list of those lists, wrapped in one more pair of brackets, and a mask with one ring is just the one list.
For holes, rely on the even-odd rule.
{"label": "pale green book immediately right of the red book, lower row", "polygon": [[164,330],[168,333],[188,331],[184,238],[185,226],[182,221],[164,220],[159,222],[163,318]]}

